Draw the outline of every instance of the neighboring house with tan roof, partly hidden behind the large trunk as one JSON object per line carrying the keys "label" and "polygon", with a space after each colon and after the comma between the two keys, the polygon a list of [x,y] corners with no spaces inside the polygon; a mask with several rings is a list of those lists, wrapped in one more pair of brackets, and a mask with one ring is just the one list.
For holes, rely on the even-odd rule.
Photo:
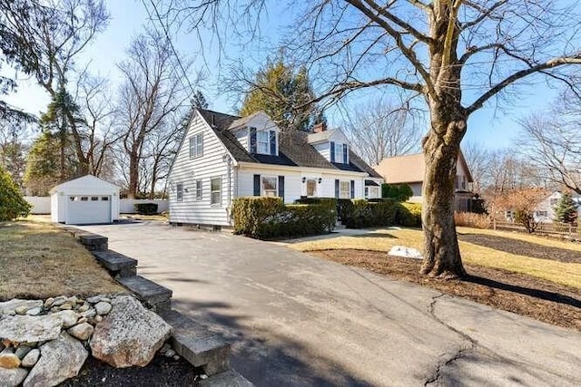
{"label": "neighboring house with tan roof, partly hidden behind the large trunk", "polygon": [[[374,169],[388,184],[408,184],[413,191],[413,196],[409,198],[409,201],[422,201],[421,192],[426,171],[426,162],[422,153],[386,158],[381,160]],[[472,192],[470,192],[470,183],[472,182],[468,163],[460,151],[455,182],[455,208],[457,211],[468,210],[468,200],[472,198]]]}

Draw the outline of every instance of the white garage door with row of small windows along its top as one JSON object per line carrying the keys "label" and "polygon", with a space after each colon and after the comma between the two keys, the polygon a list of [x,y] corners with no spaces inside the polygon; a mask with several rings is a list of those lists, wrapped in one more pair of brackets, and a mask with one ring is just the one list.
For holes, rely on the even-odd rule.
{"label": "white garage door with row of small windows along its top", "polygon": [[67,225],[111,223],[111,197],[69,196],[66,208]]}

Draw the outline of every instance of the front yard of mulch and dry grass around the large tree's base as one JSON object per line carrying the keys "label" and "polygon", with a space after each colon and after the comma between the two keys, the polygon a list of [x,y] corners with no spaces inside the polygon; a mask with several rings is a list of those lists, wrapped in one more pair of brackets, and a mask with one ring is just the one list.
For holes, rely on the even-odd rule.
{"label": "front yard of mulch and dry grass around the large tree's base", "polygon": [[420,260],[387,255],[394,246],[420,248],[421,232],[417,229],[379,229],[362,236],[306,241],[291,247],[581,331],[580,246],[464,227],[458,228],[458,234],[468,271],[462,280],[420,276]]}

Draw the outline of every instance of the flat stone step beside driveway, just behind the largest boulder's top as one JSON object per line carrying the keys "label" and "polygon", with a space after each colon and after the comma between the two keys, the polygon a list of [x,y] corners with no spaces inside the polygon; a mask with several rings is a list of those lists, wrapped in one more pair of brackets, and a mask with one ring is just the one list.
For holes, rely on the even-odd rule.
{"label": "flat stone step beside driveway, just behind the largest boulder's top", "polygon": [[157,314],[172,309],[172,290],[158,285],[143,276],[122,276],[117,282],[131,290],[137,298],[152,307]]}

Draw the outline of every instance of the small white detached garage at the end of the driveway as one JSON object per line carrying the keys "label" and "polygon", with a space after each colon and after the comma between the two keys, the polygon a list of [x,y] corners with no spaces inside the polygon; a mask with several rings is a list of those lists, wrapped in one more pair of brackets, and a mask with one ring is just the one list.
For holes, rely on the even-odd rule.
{"label": "small white detached garage at the end of the driveway", "polygon": [[50,194],[54,222],[90,225],[119,219],[119,187],[92,175],[59,184]]}

